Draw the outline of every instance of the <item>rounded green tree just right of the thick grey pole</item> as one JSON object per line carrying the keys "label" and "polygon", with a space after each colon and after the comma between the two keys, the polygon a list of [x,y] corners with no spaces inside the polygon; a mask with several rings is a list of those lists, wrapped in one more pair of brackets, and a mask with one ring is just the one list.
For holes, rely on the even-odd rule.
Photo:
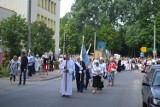
{"label": "rounded green tree just right of the thick grey pole", "polygon": [[48,28],[43,22],[32,23],[31,50],[42,55],[45,52],[54,52],[55,42],[53,39],[54,31]]}

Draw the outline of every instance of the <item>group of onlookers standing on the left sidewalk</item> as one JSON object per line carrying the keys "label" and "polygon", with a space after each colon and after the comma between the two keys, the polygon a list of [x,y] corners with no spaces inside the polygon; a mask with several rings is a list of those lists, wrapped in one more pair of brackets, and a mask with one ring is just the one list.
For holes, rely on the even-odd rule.
{"label": "group of onlookers standing on the left sidewalk", "polygon": [[16,80],[16,75],[19,74],[19,85],[26,83],[26,77],[32,77],[34,74],[38,74],[40,71],[44,72],[44,75],[48,75],[48,71],[53,72],[54,70],[54,61],[55,56],[51,53],[47,53],[40,57],[38,54],[35,56],[33,53],[29,52],[28,54],[22,52],[20,57],[16,55],[11,59],[8,70],[10,73],[10,82],[11,84]]}

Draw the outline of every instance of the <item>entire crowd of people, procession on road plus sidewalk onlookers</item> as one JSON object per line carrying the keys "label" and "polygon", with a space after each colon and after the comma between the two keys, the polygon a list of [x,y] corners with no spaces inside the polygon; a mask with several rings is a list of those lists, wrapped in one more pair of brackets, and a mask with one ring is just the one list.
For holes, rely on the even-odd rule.
{"label": "entire crowd of people, procession on road plus sidewalk onlookers", "polygon": [[[40,57],[33,53],[22,55],[17,58],[16,55],[10,61],[8,66],[10,72],[10,81],[16,80],[16,74],[19,71],[19,85],[26,84],[26,76],[31,77],[39,71],[54,70],[54,61],[56,58],[53,54],[44,54]],[[93,87],[93,94],[100,92],[105,86],[114,86],[115,74],[121,71],[140,70],[146,72],[149,66],[160,64],[159,59],[151,58],[127,58],[127,57],[97,57],[89,56],[89,64],[82,60],[80,55],[63,55],[59,59],[59,71],[61,73],[60,93],[64,97],[72,96],[72,82],[76,80],[77,92],[83,93],[88,86]],[[23,77],[23,82],[22,82]]]}

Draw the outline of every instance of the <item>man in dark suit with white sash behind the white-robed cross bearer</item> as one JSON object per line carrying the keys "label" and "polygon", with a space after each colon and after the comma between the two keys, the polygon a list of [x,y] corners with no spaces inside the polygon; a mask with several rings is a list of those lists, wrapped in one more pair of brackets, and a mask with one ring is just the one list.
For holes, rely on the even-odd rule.
{"label": "man in dark suit with white sash behind the white-robed cross bearer", "polygon": [[83,92],[84,89],[84,70],[86,70],[85,63],[80,61],[80,57],[77,58],[75,63],[77,92]]}

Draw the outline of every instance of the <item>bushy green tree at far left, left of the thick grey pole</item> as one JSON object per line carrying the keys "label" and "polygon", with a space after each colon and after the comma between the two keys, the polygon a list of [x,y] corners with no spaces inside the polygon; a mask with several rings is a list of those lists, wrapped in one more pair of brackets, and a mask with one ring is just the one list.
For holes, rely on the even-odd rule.
{"label": "bushy green tree at far left, left of the thick grey pole", "polygon": [[20,55],[21,40],[27,36],[25,19],[20,15],[13,15],[0,22],[0,36],[2,37],[1,48],[9,52],[9,58]]}

